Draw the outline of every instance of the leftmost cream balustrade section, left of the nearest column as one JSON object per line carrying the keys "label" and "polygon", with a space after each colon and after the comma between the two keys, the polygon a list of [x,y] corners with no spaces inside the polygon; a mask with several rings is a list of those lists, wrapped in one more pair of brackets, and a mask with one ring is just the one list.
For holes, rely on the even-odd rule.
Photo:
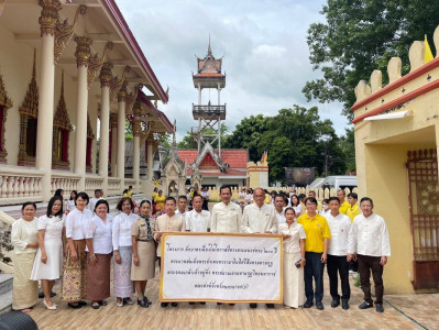
{"label": "leftmost cream balustrade section, left of the nearest column", "polygon": [[43,172],[22,167],[0,170],[0,205],[41,201]]}

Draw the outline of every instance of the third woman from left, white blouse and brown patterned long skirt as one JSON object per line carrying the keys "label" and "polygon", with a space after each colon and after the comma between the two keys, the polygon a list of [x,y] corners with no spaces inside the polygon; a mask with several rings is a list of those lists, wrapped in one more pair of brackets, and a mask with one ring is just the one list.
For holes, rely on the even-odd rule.
{"label": "third woman from left, white blouse and brown patterned long skirt", "polygon": [[86,296],[86,228],[92,212],[87,209],[89,197],[86,193],[76,196],[76,208],[67,215],[65,227],[68,241],[67,253],[64,257],[62,283],[63,300],[68,307],[81,308],[87,302],[81,301]]}

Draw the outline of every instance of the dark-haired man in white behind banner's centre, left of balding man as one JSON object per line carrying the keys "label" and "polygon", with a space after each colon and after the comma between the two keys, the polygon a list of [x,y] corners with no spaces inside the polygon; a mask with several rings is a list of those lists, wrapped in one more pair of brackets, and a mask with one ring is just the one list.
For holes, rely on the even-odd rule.
{"label": "dark-haired man in white behind banner's centre, left of balding man", "polygon": [[239,205],[231,201],[232,190],[229,186],[220,188],[221,202],[216,204],[210,215],[211,232],[240,232],[242,211]]}

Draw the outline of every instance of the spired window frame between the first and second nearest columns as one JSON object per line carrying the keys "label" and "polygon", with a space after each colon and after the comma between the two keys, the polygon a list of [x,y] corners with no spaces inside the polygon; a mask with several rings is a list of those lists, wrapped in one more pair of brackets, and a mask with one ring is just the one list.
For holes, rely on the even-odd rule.
{"label": "spired window frame between the first and second nearest columns", "polygon": [[64,99],[64,72],[61,82],[61,97],[54,117],[52,167],[56,169],[69,169],[68,141],[72,132],[70,119]]}

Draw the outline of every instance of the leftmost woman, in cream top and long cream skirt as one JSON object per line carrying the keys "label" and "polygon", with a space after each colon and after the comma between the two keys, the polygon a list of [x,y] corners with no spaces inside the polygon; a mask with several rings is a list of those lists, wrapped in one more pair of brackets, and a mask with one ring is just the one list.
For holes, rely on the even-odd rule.
{"label": "leftmost woman, in cream top and long cream skirt", "polygon": [[39,248],[35,211],[36,205],[33,201],[23,204],[23,217],[12,223],[11,231],[11,243],[14,246],[12,309],[23,312],[30,312],[39,299],[39,283],[30,279]]}

